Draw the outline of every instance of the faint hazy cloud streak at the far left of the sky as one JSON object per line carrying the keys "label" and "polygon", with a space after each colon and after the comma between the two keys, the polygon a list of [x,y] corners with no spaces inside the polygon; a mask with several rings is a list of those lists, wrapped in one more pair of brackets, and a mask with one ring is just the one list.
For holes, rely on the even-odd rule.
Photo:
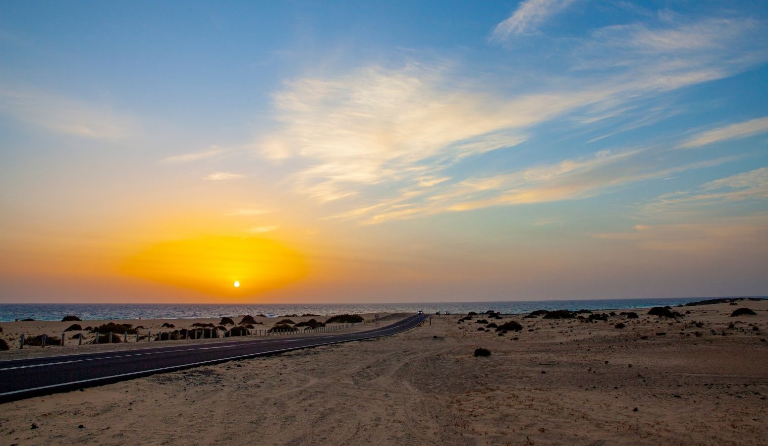
{"label": "faint hazy cloud streak at the far left of the sky", "polygon": [[0,113],[74,137],[119,139],[137,128],[133,118],[109,107],[25,88],[0,88]]}

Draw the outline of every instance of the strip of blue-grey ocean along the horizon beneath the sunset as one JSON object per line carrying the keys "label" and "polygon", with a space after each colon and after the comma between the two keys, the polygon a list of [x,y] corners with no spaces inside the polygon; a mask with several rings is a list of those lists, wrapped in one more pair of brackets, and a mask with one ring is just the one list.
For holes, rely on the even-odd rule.
{"label": "strip of blue-grey ocean along the horizon beneath the sunset", "polygon": [[587,299],[587,300],[528,300],[509,302],[401,302],[401,303],[328,303],[328,304],[137,304],[137,303],[0,303],[0,322],[15,319],[61,320],[67,315],[81,319],[192,319],[220,318],[273,314],[302,315],[305,313],[331,316],[343,313],[406,312],[423,310],[427,313],[485,312],[494,310],[506,314],[529,313],[537,309],[631,309],[650,306],[675,306],[711,297],[664,299]]}

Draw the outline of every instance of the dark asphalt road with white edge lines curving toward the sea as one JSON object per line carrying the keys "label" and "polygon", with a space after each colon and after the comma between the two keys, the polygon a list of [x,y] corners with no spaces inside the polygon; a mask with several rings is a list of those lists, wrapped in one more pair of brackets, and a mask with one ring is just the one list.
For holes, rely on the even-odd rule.
{"label": "dark asphalt road with white edge lines curving toward the sea", "polygon": [[366,332],[276,336],[250,341],[204,342],[155,349],[0,361],[0,403],[124,381],[154,373],[173,372],[198,365],[395,335],[412,329],[427,317],[409,316],[391,325]]}

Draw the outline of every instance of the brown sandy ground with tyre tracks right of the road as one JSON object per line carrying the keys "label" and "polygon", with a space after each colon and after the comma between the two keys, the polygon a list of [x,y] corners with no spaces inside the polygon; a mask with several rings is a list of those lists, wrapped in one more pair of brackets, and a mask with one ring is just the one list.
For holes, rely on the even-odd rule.
{"label": "brown sandy ground with tyre tracks right of the road", "polygon": [[[728,316],[742,306],[757,316]],[[0,444],[768,444],[768,302],[685,310],[489,319],[524,326],[504,336],[437,316],[387,338],[0,405]]]}

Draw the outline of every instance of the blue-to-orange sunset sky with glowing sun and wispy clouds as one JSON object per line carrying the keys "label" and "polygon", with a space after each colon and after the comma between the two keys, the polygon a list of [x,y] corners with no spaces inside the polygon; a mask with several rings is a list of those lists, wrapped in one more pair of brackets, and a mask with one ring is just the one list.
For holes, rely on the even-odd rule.
{"label": "blue-to-orange sunset sky with glowing sun and wispy clouds", "polygon": [[763,296],[766,271],[762,1],[0,4],[0,302]]}

